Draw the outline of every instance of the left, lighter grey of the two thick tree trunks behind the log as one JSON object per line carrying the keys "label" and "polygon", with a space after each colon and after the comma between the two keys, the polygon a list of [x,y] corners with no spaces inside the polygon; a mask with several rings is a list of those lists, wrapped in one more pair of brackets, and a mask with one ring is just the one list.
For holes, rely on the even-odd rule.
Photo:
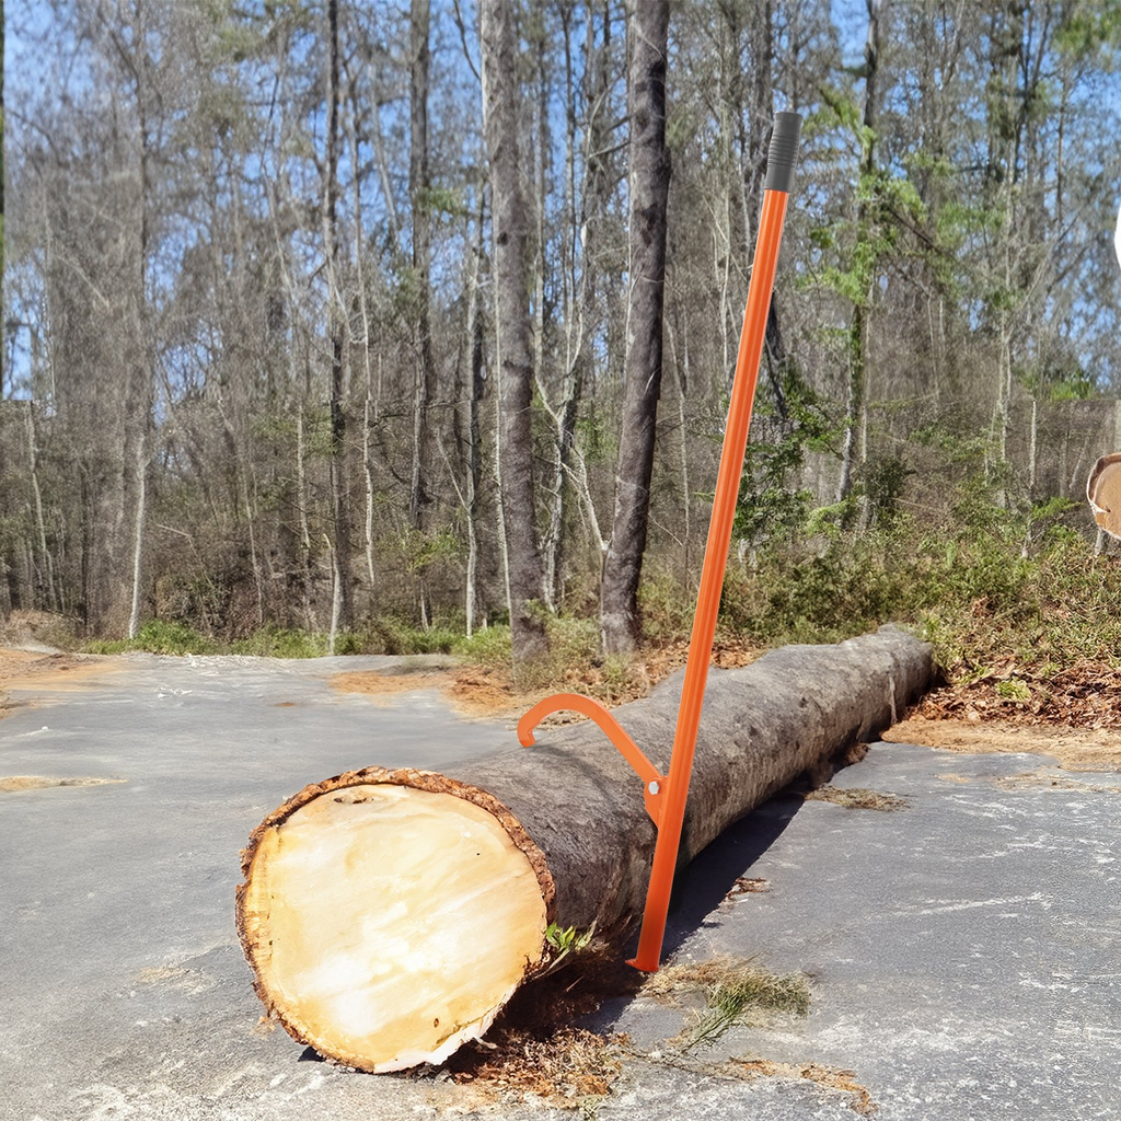
{"label": "left, lighter grey of the two thick tree trunks behind the log", "polygon": [[509,557],[510,627],[516,667],[547,649],[534,605],[544,600],[534,513],[531,402],[534,370],[529,309],[529,211],[521,188],[518,145],[517,35],[507,0],[481,4],[483,117],[490,156],[494,228],[494,286],[502,401],[501,506]]}

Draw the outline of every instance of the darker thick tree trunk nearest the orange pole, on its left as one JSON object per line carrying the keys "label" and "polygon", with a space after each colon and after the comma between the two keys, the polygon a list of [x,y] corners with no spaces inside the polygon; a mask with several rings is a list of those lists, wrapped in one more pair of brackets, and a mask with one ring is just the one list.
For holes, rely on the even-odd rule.
{"label": "darker thick tree trunk nearest the orange pole, on its left", "polygon": [[603,562],[600,629],[604,649],[628,651],[639,637],[638,586],[646,550],[666,281],[666,49],[669,6],[637,0],[630,84],[630,307],[622,430],[611,543]]}

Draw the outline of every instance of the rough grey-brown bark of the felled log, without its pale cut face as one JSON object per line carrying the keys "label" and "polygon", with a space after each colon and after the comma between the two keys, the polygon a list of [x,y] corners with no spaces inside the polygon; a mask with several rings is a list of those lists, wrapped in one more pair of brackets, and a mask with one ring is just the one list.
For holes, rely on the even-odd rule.
{"label": "rough grey-brown bark of the felled log, without its pale cut face", "polygon": [[[683,859],[695,856],[800,775],[827,777],[832,759],[902,719],[905,706],[930,684],[933,674],[930,647],[890,627],[837,646],[785,647],[744,669],[714,671],[697,740]],[[615,712],[664,773],[679,691],[677,675],[650,697]],[[617,938],[627,930],[642,907],[656,841],[639,779],[594,724],[549,729],[528,750],[512,748],[465,763],[454,777],[379,767],[350,771],[307,787],[261,823],[243,853],[238,928],[258,993],[295,1038],[362,1065],[361,1056],[343,1054],[330,1040],[307,1038],[287,1016],[268,983],[268,957],[261,949],[267,928],[259,916],[245,915],[243,904],[262,836],[299,807],[345,787],[393,784],[452,794],[487,808],[526,854],[548,920],[580,929],[594,923],[602,934]],[[376,854],[370,859],[376,861]],[[433,869],[433,883],[439,874]],[[401,921],[401,936],[407,937],[407,916]],[[454,923],[454,917],[447,921]],[[467,942],[478,937],[478,930],[463,932]],[[324,947],[325,956],[330,949]],[[538,967],[538,962],[526,961],[524,978],[531,979]],[[454,964],[444,969],[454,975]],[[478,1011],[481,1030],[495,1011]]]}

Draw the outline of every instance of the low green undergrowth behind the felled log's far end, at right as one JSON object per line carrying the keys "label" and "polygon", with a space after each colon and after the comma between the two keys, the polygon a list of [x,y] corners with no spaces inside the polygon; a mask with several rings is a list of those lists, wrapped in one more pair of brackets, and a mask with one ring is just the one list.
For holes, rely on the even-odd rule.
{"label": "low green undergrowth behind the felled log's far end, at right", "polygon": [[[1009,513],[972,488],[941,530],[898,515],[863,534],[760,550],[733,566],[722,626],[762,645],[832,642],[914,624],[944,665],[1013,655],[1062,667],[1121,649],[1121,571],[1054,519],[1068,503]],[[1030,543],[1030,547],[1029,547]]]}

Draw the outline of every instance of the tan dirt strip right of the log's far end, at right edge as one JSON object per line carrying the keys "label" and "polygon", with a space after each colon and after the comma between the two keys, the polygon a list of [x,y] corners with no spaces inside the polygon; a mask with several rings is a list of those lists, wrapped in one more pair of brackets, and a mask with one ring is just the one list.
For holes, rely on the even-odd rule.
{"label": "tan dirt strip right of the log's far end, at right edge", "polygon": [[883,733],[886,743],[914,743],[970,754],[1031,752],[1053,756],[1063,770],[1121,770],[1121,732],[1046,728],[1007,721],[930,720],[911,716]]}

